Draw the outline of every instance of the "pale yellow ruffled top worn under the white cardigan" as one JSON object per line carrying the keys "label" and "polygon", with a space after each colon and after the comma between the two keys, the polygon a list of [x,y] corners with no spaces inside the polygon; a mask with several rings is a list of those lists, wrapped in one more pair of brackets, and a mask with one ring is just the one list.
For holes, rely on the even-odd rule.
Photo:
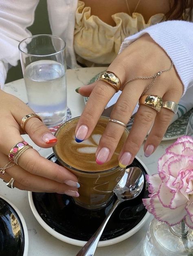
{"label": "pale yellow ruffled top worn under the white cardigan", "polygon": [[140,13],[116,13],[112,15],[115,26],[111,26],[95,15],[91,8],[78,1],[75,19],[74,49],[77,61],[86,66],[110,64],[120,49],[121,43],[129,35],[159,23],[163,13],[152,16],[147,23]]}

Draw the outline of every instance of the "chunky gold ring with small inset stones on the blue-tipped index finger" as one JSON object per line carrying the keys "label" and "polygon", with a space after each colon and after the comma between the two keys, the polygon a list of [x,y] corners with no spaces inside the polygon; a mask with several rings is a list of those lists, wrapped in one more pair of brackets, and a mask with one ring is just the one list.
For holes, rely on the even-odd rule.
{"label": "chunky gold ring with small inset stones on the blue-tipped index finger", "polygon": [[110,84],[111,86],[113,86],[115,88],[116,92],[118,92],[118,90],[120,90],[120,88],[121,88],[121,81],[120,81],[120,79],[118,78],[117,75],[115,75],[111,71],[104,71],[99,76],[99,79],[103,80],[107,84]]}

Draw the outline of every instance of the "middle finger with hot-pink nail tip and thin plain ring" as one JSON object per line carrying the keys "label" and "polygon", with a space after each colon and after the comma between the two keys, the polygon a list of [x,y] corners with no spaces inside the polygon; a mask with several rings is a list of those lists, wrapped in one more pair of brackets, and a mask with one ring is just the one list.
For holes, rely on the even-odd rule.
{"label": "middle finger with hot-pink nail tip and thin plain ring", "polygon": [[[110,118],[127,124],[142,92],[142,81],[133,81],[131,86],[125,86],[123,93],[121,93],[114,105]],[[124,129],[125,128],[119,124],[108,122],[96,150],[96,163],[103,164],[111,159]]]}

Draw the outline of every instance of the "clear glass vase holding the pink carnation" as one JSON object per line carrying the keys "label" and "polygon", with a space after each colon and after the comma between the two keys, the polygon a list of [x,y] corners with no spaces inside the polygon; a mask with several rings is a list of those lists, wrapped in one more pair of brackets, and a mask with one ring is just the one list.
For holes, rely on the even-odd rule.
{"label": "clear glass vase holding the pink carnation", "polygon": [[170,227],[154,218],[147,231],[142,255],[193,255],[193,230],[184,221]]}

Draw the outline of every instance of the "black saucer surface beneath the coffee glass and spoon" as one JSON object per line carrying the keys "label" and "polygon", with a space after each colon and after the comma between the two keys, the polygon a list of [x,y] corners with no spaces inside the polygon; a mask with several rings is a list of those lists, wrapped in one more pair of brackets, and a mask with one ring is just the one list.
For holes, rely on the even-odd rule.
{"label": "black saucer surface beneath the coffee glass and spoon", "polygon": [[[57,163],[54,154],[48,159]],[[137,159],[134,159],[131,166],[138,166],[144,174],[147,174]],[[100,241],[116,238],[129,232],[143,219],[147,210],[142,198],[148,197],[147,187],[145,183],[143,192],[136,199],[123,202],[118,206],[107,223]],[[32,196],[39,216],[47,225],[61,235],[80,241],[88,241],[116,200],[114,196],[105,208],[86,210],[77,206],[73,199],[65,194],[32,192]]]}

